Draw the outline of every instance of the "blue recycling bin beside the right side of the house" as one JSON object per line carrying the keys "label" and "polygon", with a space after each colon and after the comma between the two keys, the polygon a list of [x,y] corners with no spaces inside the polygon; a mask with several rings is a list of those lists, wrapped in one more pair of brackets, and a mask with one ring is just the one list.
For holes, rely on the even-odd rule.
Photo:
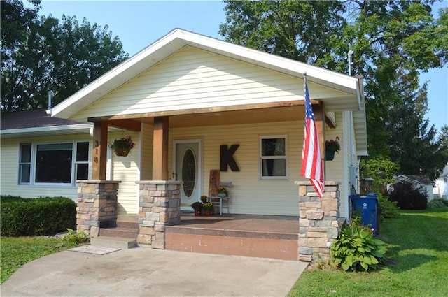
{"label": "blue recycling bin beside the right side of the house", "polygon": [[361,224],[363,226],[372,226],[374,233],[377,234],[379,229],[378,213],[379,200],[376,193],[367,193],[363,195],[350,195],[353,211],[359,211],[361,216]]}

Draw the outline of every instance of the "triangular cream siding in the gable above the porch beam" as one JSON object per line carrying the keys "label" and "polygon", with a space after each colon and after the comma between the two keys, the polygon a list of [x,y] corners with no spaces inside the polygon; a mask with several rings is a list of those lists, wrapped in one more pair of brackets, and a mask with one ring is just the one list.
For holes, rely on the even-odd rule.
{"label": "triangular cream siding in the gable above the porch beam", "polygon": [[[345,96],[310,83],[313,99]],[[185,47],[71,119],[303,99],[303,80]]]}

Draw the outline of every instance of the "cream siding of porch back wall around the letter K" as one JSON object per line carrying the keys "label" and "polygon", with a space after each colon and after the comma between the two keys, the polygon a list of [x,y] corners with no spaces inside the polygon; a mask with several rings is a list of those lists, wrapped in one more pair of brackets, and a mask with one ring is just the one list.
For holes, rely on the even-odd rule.
{"label": "cream siding of porch back wall around the letter K", "polygon": [[[259,136],[288,136],[288,179],[259,180]],[[298,215],[298,189],[294,184],[300,178],[303,141],[303,121],[266,124],[245,124],[171,129],[169,131],[169,156],[172,156],[173,140],[202,138],[203,193],[208,194],[209,173],[219,169],[221,145],[239,148],[234,157],[240,171],[221,172],[221,181],[232,182],[230,212],[236,214]],[[172,160],[169,161],[172,168]]]}

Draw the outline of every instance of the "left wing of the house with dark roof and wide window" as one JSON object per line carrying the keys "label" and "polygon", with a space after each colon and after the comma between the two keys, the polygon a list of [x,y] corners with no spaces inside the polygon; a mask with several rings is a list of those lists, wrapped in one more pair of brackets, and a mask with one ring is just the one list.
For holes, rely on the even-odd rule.
{"label": "left wing of the house with dark roof and wide window", "polygon": [[1,195],[76,199],[76,180],[90,178],[92,123],[38,109],[2,113],[0,127]]}

